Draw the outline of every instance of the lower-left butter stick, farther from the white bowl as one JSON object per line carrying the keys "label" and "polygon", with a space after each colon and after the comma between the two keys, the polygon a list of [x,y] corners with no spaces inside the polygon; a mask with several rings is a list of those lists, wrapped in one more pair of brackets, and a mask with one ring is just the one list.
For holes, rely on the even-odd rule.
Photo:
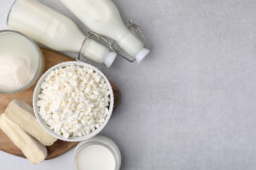
{"label": "lower-left butter stick, farther from the white bowl", "polygon": [[5,114],[0,116],[0,128],[33,164],[37,164],[47,157],[47,148],[9,120]]}

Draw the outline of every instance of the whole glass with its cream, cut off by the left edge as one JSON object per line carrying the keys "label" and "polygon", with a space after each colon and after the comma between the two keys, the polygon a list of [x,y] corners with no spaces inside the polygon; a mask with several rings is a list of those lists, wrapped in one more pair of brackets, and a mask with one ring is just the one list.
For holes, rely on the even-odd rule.
{"label": "whole glass with its cream, cut off by the left edge", "polygon": [[18,31],[0,31],[0,93],[30,88],[44,67],[43,53],[35,42]]}

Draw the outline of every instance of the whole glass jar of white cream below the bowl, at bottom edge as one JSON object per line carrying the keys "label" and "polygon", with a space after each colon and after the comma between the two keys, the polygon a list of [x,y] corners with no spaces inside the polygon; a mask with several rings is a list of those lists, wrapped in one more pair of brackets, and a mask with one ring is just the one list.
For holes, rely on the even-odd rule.
{"label": "whole glass jar of white cream below the bowl, at bottom edge", "polygon": [[119,170],[121,154],[116,143],[101,135],[96,135],[75,147],[74,170]]}

